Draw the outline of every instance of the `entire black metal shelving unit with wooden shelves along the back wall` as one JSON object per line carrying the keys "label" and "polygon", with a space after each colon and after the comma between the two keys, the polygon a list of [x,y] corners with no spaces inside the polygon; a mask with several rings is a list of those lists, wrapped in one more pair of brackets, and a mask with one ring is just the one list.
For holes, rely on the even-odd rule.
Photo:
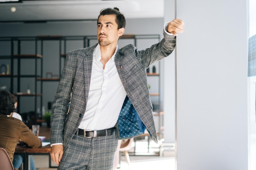
{"label": "entire black metal shelving unit with wooden shelves along the back wall", "polygon": [[[138,40],[146,40],[146,39],[156,39],[158,42],[160,41],[160,35],[134,35],[134,34],[126,34],[123,35],[121,37],[121,39],[119,40],[131,40],[132,43],[137,46],[138,45]],[[21,53],[22,51],[22,42],[25,41],[31,41],[34,43],[34,53]],[[56,63],[56,66],[58,67],[58,77],[44,77],[43,76],[43,69],[44,69],[44,65],[43,65],[43,58],[47,57],[44,55],[43,57],[43,52],[44,52],[44,42],[45,41],[58,41],[58,56],[53,56],[53,57],[58,57],[58,63]],[[42,112],[43,112],[43,97],[44,97],[44,92],[43,92],[43,86],[44,86],[44,82],[58,82],[59,81],[59,77],[61,76],[61,71],[62,71],[62,67],[63,67],[63,63],[65,62],[65,57],[67,54],[67,51],[70,51],[70,49],[68,49],[69,45],[68,42],[70,41],[78,41],[82,47],[88,47],[88,46],[92,46],[94,45],[94,42],[97,41],[97,36],[96,35],[76,35],[76,36],[61,36],[61,35],[38,35],[38,36],[34,36],[34,37],[0,37],[0,43],[2,42],[6,42],[9,48],[9,54],[1,54],[0,53],[0,60],[1,59],[5,59],[5,60],[9,60],[10,63],[10,71],[9,74],[2,74],[0,73],[0,78],[5,77],[5,78],[9,78],[10,81],[10,92],[14,93],[14,79],[17,79],[17,91],[16,93],[14,93],[15,95],[17,95],[18,100],[20,99],[20,97],[34,97],[34,116],[37,117],[38,119],[42,118]],[[1,45],[1,44],[0,44]],[[38,52],[40,52],[40,54],[38,54]],[[21,70],[22,70],[22,64],[21,64],[21,60],[22,59],[27,59],[27,60],[35,60],[34,62],[34,67],[35,70],[33,72],[33,74],[26,74],[23,75],[21,74]],[[17,60],[17,71],[14,73],[14,61]],[[38,62],[38,60],[40,60],[40,62]],[[1,65],[1,64],[0,64]],[[160,69],[159,69],[160,71]],[[158,87],[160,88],[160,73],[147,73],[148,75],[148,79],[150,79],[151,77],[158,77],[158,82],[159,85]],[[34,78],[34,90],[35,93],[31,93],[31,94],[27,94],[27,93],[22,93],[20,92],[20,86],[23,83],[22,82],[22,78],[24,77],[30,77],[30,78]],[[38,85],[40,84],[40,87],[38,88]],[[1,85],[1,84],[0,84]],[[18,92],[18,93],[17,93]],[[157,114],[159,114],[159,112],[161,110],[160,109],[160,89],[157,93],[150,93],[150,97],[158,97],[158,109],[157,110],[153,110],[154,112],[156,112]],[[40,100],[40,104],[38,106],[38,99]],[[20,104],[20,102],[18,102],[18,104]],[[40,107],[40,113],[38,113],[38,107]],[[20,112],[20,106],[18,106],[18,112]],[[39,115],[38,115],[39,114]],[[159,114],[160,115],[160,114]],[[159,119],[160,120],[160,119]],[[158,123],[159,127],[158,129],[160,129],[160,122]],[[158,132],[159,134],[159,132]]]}

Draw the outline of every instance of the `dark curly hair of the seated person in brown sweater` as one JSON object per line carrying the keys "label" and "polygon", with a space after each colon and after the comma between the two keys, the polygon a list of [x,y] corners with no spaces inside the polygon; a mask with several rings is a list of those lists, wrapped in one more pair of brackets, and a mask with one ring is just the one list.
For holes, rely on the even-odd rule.
{"label": "dark curly hair of the seated person in brown sweater", "polygon": [[15,100],[9,91],[0,91],[0,114],[10,115],[14,110]]}

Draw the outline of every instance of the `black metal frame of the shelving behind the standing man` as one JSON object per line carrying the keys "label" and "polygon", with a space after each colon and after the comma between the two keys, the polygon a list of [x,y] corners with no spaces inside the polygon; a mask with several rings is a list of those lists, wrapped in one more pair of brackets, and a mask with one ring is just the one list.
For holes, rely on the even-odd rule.
{"label": "black metal frame of the shelving behind the standing man", "polygon": [[[160,35],[159,34],[151,34],[151,35],[135,35],[135,34],[124,34],[121,36],[120,39],[132,39],[134,40],[134,45],[137,46],[138,40],[140,39],[157,39],[158,42],[160,42]],[[58,82],[60,78],[47,78],[43,77],[43,42],[47,40],[57,40],[59,41],[59,77],[61,77],[61,66],[63,65],[63,60],[65,62],[65,57],[67,55],[67,42],[69,40],[82,40],[83,47],[88,47],[90,46],[91,40],[97,40],[97,35],[71,35],[71,36],[62,36],[62,35],[38,35],[38,36],[19,36],[19,37],[0,37],[0,41],[9,41],[10,46],[11,46],[11,54],[10,55],[0,55],[0,59],[10,59],[11,60],[11,71],[10,75],[1,75],[1,77],[10,77],[11,79],[11,93],[13,93],[13,83],[14,83],[14,78],[18,79],[18,90],[20,91],[20,79],[21,77],[33,77],[35,78],[35,94],[31,95],[17,95],[18,97],[22,96],[39,96],[35,97],[35,114],[37,113],[37,105],[38,105],[38,99],[40,99],[40,113],[42,116],[42,108],[43,108],[43,82]],[[18,53],[14,54],[14,51],[16,49],[16,46],[14,46],[14,42],[18,41]],[[21,42],[22,41],[34,41],[35,42],[35,51],[34,54],[23,54],[21,53]],[[39,44],[40,43],[40,44]],[[40,51],[40,54],[38,53]],[[34,59],[35,60],[35,74],[34,75],[21,75],[20,74],[20,60],[22,59]],[[13,65],[14,65],[14,60],[18,60],[18,74],[13,74]],[[41,61],[40,64],[38,64],[38,60]],[[37,69],[38,66],[40,66],[40,73],[39,70]],[[159,69],[160,71],[160,69]],[[159,77],[159,88],[160,88],[160,75],[159,73],[147,73],[147,76],[157,76]],[[38,88],[37,84],[40,84],[40,88]],[[161,107],[161,101],[160,101],[160,90],[159,93],[151,93],[150,96],[158,96],[158,103],[159,103],[159,108]],[[20,108],[20,107],[18,107]],[[19,110],[18,110],[19,112]]]}

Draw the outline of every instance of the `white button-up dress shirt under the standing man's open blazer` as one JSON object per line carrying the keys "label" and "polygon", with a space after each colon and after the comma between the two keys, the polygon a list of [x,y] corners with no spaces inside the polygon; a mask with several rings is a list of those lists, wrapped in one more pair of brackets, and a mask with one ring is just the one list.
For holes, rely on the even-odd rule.
{"label": "white button-up dress shirt under the standing man's open blazer", "polygon": [[103,130],[117,123],[126,91],[117,73],[115,54],[103,69],[99,44],[94,49],[90,90],[80,129]]}

